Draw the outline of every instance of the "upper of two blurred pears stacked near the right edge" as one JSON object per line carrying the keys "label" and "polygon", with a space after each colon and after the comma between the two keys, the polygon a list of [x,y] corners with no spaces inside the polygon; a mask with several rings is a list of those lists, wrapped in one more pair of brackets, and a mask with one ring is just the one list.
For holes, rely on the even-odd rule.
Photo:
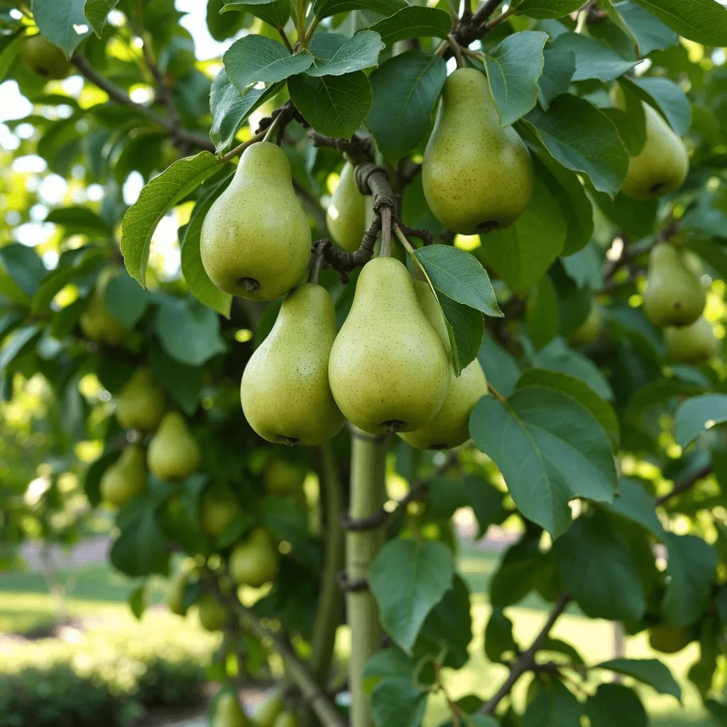
{"label": "upper of two blurred pears stacked near the right edge", "polygon": [[659,242],[648,261],[643,310],[655,326],[688,326],[702,315],[707,295],[677,247]]}

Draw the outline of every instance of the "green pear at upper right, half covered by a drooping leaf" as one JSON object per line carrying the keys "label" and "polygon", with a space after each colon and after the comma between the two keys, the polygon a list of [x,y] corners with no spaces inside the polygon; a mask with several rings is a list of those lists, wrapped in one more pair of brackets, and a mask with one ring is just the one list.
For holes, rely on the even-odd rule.
{"label": "green pear at upper right, half covered by a drooping leaf", "polygon": [[629,157],[629,169],[621,191],[630,197],[660,197],[680,188],[689,171],[686,146],[662,115],[647,104],[646,143]]}

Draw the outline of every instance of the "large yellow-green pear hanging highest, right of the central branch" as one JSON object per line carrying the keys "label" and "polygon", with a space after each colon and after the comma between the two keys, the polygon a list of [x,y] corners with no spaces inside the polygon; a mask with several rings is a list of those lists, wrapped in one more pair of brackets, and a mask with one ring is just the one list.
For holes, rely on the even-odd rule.
{"label": "large yellow-green pear hanging highest, right of the central branch", "polygon": [[530,154],[512,126],[500,126],[487,79],[475,68],[459,68],[444,83],[422,184],[435,217],[463,235],[512,225],[530,201]]}

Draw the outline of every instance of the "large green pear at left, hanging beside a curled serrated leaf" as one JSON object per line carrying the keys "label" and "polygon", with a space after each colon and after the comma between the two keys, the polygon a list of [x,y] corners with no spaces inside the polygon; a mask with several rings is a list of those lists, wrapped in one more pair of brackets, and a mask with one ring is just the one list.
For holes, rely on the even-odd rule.
{"label": "large green pear at left, hanging beside a curled serrated leaf", "polygon": [[212,282],[233,295],[270,300],[298,283],[310,257],[310,227],[280,147],[258,142],[244,151],[204,218],[200,253]]}

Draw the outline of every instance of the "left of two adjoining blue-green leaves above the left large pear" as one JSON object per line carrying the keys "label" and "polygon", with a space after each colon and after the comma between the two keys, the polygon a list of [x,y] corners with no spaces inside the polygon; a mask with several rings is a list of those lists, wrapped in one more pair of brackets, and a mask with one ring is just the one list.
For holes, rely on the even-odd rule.
{"label": "left of two adjoining blue-green leaves above the left large pear", "polygon": [[274,84],[310,68],[313,54],[304,50],[290,55],[286,47],[251,33],[235,41],[222,56],[228,78],[241,93],[262,81]]}

